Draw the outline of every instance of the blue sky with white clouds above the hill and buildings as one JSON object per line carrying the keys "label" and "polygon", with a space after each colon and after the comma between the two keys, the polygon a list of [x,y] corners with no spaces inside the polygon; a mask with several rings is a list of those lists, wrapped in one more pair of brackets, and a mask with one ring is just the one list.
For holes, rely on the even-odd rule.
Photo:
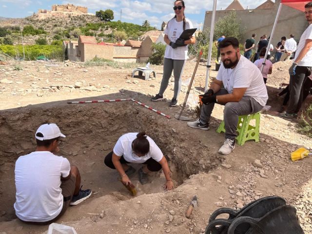
{"label": "blue sky with white clouds above the hill and buildings", "polygon": [[[233,0],[218,0],[217,10],[225,9]],[[205,11],[212,10],[213,0],[184,0],[185,15],[195,27],[204,23]],[[240,0],[244,8],[253,9],[265,0]],[[172,9],[174,0],[0,0],[0,17],[24,18],[39,9],[51,9],[53,4],[71,3],[88,7],[89,13],[102,9],[112,9],[114,20],[142,24],[148,20],[158,29],[162,21],[168,21],[174,16]]]}

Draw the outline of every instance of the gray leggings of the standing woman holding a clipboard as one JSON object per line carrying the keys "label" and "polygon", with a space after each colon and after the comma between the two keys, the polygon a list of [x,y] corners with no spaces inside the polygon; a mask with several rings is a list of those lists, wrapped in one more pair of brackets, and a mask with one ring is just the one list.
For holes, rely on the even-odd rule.
{"label": "gray leggings of the standing woman holding a clipboard", "polygon": [[167,59],[164,58],[164,71],[163,76],[159,88],[159,95],[163,95],[165,90],[168,87],[169,79],[172,74],[172,70],[174,70],[174,77],[175,77],[175,93],[174,98],[177,98],[178,94],[181,91],[181,83],[182,83],[182,74],[183,69],[186,64],[186,60],[178,60],[178,59]]}

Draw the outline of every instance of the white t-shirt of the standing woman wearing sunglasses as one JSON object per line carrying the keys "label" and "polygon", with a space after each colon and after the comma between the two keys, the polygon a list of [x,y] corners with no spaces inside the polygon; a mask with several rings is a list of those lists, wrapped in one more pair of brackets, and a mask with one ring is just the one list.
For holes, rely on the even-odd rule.
{"label": "white t-shirt of the standing woman wearing sunglasses", "polygon": [[[185,19],[185,21],[185,29],[193,28],[193,24],[190,20]],[[172,20],[169,20],[164,34],[168,36],[170,41],[176,42],[176,39],[180,37],[182,32],[183,20],[177,22],[176,18],[174,18]],[[186,60],[188,59],[187,52],[188,46],[179,46],[176,49],[173,49],[170,45],[167,45],[164,58]]]}

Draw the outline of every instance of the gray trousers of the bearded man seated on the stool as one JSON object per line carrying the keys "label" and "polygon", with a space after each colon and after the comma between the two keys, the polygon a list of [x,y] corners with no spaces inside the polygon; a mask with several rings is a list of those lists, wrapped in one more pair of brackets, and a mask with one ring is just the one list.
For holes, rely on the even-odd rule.
{"label": "gray trousers of the bearded man seated on the stool", "polygon": [[[220,89],[214,95],[225,95],[228,91],[224,88]],[[211,113],[215,103],[208,105],[203,104],[199,121],[202,124],[207,124],[210,120]],[[225,138],[234,140],[237,137],[238,116],[254,114],[263,108],[254,98],[243,96],[238,102],[228,102],[224,105],[223,120],[225,125]]]}

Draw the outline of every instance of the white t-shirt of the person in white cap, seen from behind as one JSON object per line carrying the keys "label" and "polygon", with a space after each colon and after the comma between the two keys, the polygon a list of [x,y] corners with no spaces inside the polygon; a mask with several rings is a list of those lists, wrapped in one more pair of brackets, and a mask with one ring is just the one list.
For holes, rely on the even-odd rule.
{"label": "white t-shirt of the person in white cap, seen from behind", "polygon": [[70,173],[67,158],[48,151],[20,156],[15,164],[16,215],[24,221],[46,222],[62,210],[60,177]]}

